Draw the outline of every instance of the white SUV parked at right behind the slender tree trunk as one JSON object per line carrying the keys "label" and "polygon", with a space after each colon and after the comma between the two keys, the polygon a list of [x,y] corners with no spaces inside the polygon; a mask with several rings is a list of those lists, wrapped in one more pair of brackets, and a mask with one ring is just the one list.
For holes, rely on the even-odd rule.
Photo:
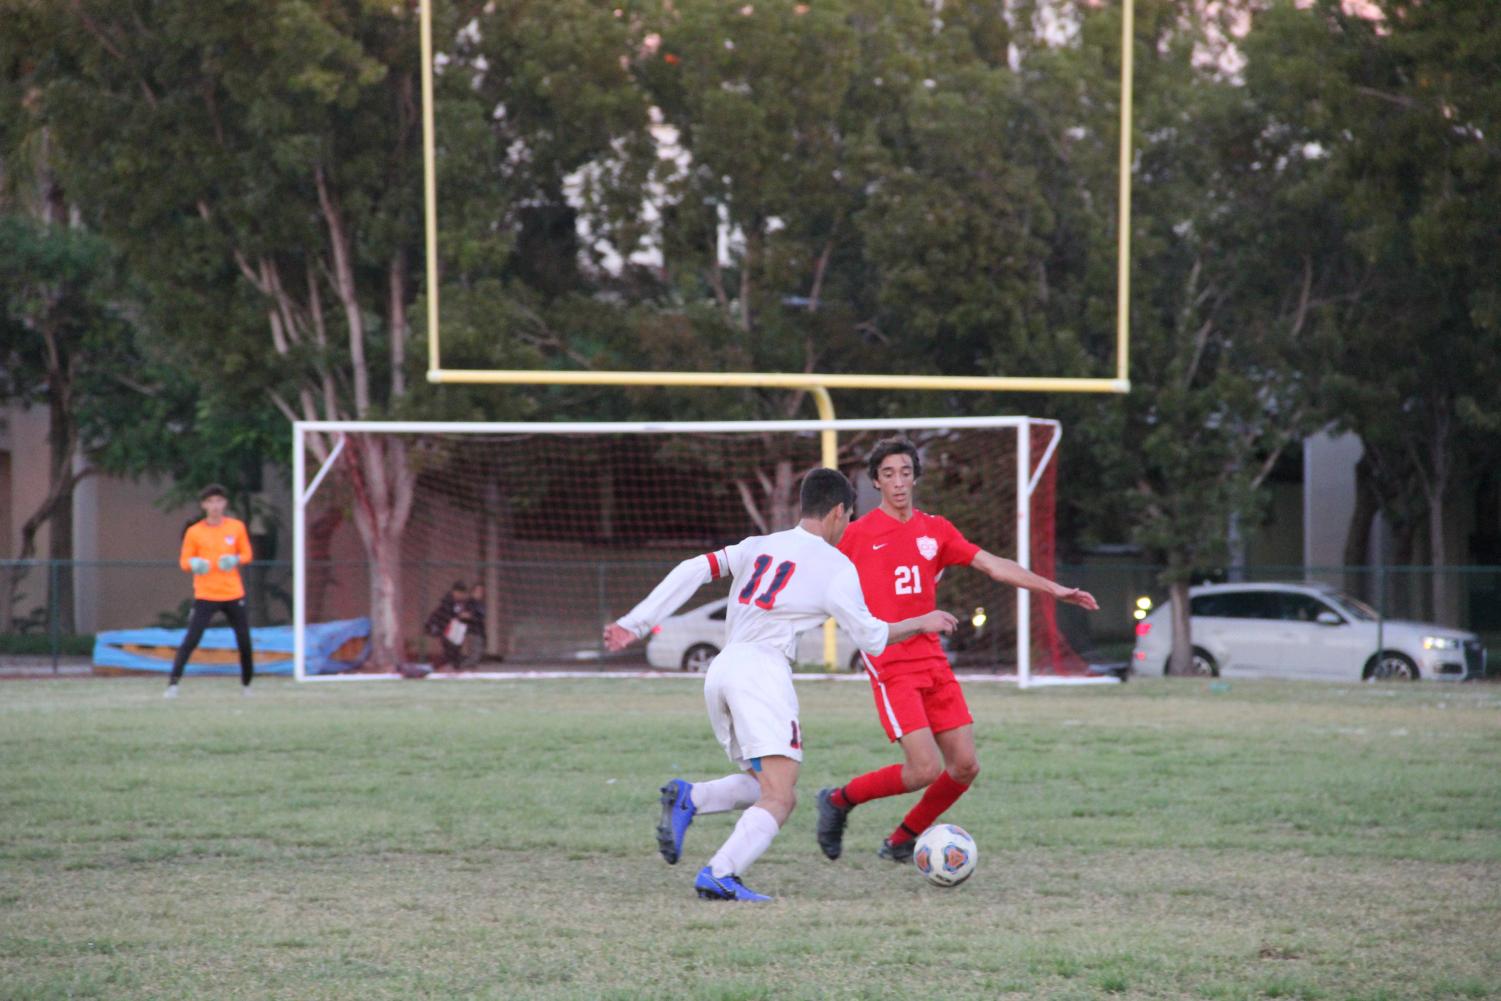
{"label": "white SUV parked at right behind the slender tree trunk", "polygon": [[[1378,618],[1369,605],[1331,587],[1205,584],[1189,590],[1193,671],[1337,681],[1484,675],[1486,650],[1475,633]],[[1136,623],[1132,668],[1160,674],[1171,650],[1172,606],[1163,602]]]}

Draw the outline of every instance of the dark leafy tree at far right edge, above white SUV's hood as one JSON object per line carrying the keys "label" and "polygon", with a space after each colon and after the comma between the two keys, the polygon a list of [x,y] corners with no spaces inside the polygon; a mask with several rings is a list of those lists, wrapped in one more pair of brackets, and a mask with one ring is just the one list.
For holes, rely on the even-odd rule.
{"label": "dark leafy tree at far right edge, above white SUV's hood", "polygon": [[[1345,249],[1366,269],[1330,359],[1330,414],[1361,435],[1379,495],[1417,483],[1441,564],[1456,473],[1501,429],[1501,21],[1486,0],[1375,6],[1273,5],[1247,80],[1289,146],[1327,158]],[[1433,614],[1445,587],[1433,575]]]}

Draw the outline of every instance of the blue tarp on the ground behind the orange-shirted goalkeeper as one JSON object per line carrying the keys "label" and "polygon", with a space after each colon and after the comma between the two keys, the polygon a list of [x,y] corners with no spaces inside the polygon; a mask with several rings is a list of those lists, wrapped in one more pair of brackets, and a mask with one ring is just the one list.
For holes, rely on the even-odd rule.
{"label": "blue tarp on the ground behind the orange-shirted goalkeeper", "polygon": [[[114,629],[102,632],[95,638],[93,662],[96,668],[123,668],[126,671],[161,671],[167,674],[173,669],[173,653],[182,645],[186,629]],[[308,674],[339,674],[353,671],[365,662],[369,653],[371,620],[344,618],[333,623],[317,623],[303,630],[308,642]],[[354,656],[345,660],[335,660],[333,654],[351,639],[363,639],[354,647]],[[257,674],[291,674],[291,626],[263,626],[251,630],[251,645],[255,648]],[[152,653],[126,650],[126,647],[147,647]],[[231,657],[224,663],[201,663],[200,654],[210,650],[228,650],[234,653],[234,630],[207,629],[203,642],[188,660],[188,674],[230,674],[240,675],[239,657]],[[285,654],[267,657],[267,654]]]}

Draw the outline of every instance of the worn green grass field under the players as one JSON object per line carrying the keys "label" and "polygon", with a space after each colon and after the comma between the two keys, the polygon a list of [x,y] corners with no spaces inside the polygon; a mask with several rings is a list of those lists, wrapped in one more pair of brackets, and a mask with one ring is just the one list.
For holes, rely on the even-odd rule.
{"label": "worn green grass field under the players", "polygon": [[1501,687],[970,686],[956,890],[845,858],[812,792],[886,764],[800,686],[803,803],[704,902],[656,786],[713,777],[693,680],[0,684],[0,996],[1501,998]]}

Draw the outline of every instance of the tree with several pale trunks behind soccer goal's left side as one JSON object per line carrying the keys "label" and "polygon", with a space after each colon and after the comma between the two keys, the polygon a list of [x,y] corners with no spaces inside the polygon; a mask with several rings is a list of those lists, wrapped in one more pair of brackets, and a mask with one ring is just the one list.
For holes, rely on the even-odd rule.
{"label": "tree with several pale trunks behind soccer goal's left side", "polygon": [[[503,6],[446,5],[437,24],[446,281],[498,296],[513,282],[522,207],[555,198],[561,177],[639,111],[614,90],[623,71],[608,11]],[[44,57],[24,68],[26,86],[66,150],[71,188],[87,192],[84,218],[125,248],[167,329],[221,386],[254,387],[287,419],[420,413],[434,398],[410,320],[422,245],[416,5],[137,8],[44,6],[27,21]],[[578,30],[554,30],[564,23]],[[473,348],[458,326],[461,350]],[[528,350],[527,333],[486,330],[486,362]],[[372,656],[393,666],[414,477],[399,438],[350,441]],[[312,449],[327,458],[332,444]]]}

